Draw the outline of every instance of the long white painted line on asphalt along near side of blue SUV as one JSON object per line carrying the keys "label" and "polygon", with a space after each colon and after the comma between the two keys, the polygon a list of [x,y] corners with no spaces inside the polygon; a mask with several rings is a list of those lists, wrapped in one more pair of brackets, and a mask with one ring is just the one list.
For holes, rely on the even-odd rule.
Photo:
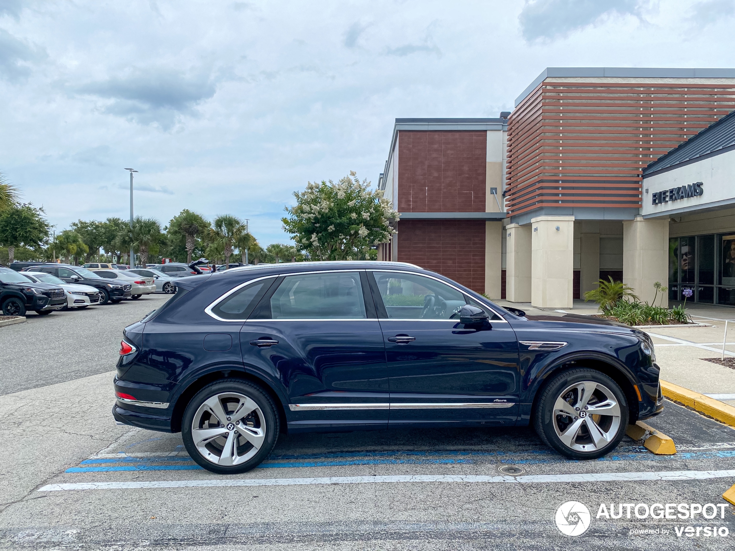
{"label": "long white painted line on asphalt along near side of blue SUV", "polygon": [[707,478],[735,478],[735,470],[727,471],[660,471],[660,472],[591,472],[577,475],[395,475],[395,476],[337,476],[320,478],[251,478],[207,480],[158,480],[141,482],[80,482],[47,484],[38,491],[121,490],[155,488],[214,488],[222,486],[313,486],[323,484],[373,483],[569,483],[569,482],[629,482],[632,480],[704,480]]}

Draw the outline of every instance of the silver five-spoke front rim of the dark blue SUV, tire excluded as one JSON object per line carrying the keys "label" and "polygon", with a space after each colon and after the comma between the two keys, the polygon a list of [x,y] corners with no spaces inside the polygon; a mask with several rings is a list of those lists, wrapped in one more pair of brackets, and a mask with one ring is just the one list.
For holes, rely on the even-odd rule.
{"label": "silver five-spoke front rim of the dark blue SUV, tire excluded", "polygon": [[592,453],[605,447],[620,428],[620,404],[605,385],[581,381],[567,386],[553,406],[556,436],[570,450]]}

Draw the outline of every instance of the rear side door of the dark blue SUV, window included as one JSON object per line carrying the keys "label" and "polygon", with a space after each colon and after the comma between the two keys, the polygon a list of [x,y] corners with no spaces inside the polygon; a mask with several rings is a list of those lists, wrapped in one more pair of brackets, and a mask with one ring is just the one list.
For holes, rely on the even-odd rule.
{"label": "rear side door of the dark blue SUV, window included", "polygon": [[364,280],[358,271],[280,278],[240,332],[245,363],[269,364],[286,387],[290,431],[387,426],[383,336]]}

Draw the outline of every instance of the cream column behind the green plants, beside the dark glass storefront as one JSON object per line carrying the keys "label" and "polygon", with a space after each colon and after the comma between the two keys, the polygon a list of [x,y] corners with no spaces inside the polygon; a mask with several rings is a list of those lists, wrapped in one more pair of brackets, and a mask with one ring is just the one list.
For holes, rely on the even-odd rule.
{"label": "cream column behind the green plants, beside the dark glass storefront", "polygon": [[[660,281],[668,287],[669,220],[644,220],[642,216],[623,221],[623,283],[630,285],[643,302],[652,303]],[[661,298],[661,292],[659,292]],[[656,305],[668,307],[669,298]]]}

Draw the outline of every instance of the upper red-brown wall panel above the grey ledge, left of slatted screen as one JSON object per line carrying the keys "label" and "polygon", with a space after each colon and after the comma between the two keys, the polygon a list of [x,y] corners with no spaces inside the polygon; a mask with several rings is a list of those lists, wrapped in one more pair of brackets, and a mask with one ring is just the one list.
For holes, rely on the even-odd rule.
{"label": "upper red-brown wall panel above the grey ledge, left of slatted screen", "polygon": [[401,131],[398,212],[484,212],[487,132]]}

